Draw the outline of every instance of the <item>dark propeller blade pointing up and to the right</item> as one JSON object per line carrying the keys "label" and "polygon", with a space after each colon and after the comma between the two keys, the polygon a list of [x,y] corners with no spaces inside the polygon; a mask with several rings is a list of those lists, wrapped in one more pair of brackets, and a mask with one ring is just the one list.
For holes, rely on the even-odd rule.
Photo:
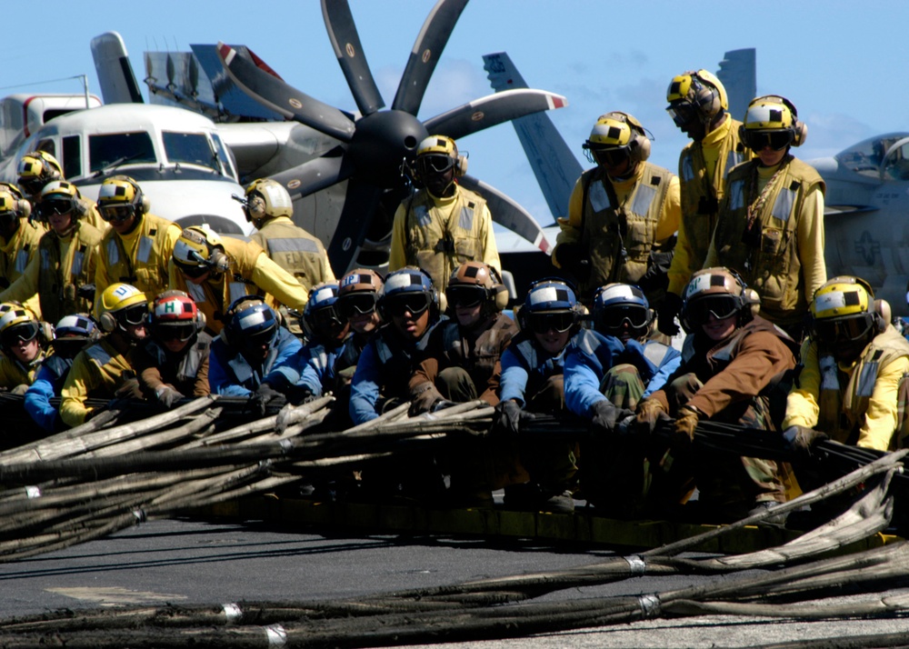
{"label": "dark propeller blade pointing up and to the right", "polygon": [[[323,5],[325,0],[323,0]],[[439,0],[426,17],[423,29],[417,35],[414,49],[410,52],[404,75],[398,85],[392,110],[401,110],[411,115],[420,111],[423,95],[429,79],[448,43],[454,24],[461,17],[467,0]]]}

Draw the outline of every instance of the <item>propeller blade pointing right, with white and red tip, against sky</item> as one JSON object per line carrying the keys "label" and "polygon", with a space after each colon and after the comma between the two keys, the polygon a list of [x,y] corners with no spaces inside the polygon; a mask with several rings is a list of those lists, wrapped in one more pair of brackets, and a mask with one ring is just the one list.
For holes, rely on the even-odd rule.
{"label": "propeller blade pointing right, with white and red tip, against sky", "polygon": [[456,140],[516,117],[566,105],[568,100],[564,96],[545,90],[505,90],[431,117],[423,125],[430,134],[448,135]]}

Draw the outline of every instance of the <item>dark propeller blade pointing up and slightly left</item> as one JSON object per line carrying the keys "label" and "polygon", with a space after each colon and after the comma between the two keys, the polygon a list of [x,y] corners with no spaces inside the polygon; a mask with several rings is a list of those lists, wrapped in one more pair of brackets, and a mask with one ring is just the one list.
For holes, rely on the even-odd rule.
{"label": "dark propeller blade pointing up and slightly left", "polygon": [[364,116],[372,115],[384,108],[385,101],[375,85],[373,73],[369,71],[347,0],[322,0],[322,16],[325,18],[325,28],[332,47],[335,48],[335,56],[338,57],[341,71],[344,72],[360,113]]}

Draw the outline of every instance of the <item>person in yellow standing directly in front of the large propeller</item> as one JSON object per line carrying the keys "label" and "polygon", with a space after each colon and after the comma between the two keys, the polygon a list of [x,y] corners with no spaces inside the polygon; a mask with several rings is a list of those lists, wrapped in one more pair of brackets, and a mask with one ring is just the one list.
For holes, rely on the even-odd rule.
{"label": "person in yellow standing directly in front of the large propeller", "polygon": [[489,207],[483,196],[457,183],[466,171],[467,158],[450,137],[430,135],[417,146],[411,174],[423,188],[395,212],[389,273],[419,266],[440,293],[464,262],[483,262],[502,273]]}

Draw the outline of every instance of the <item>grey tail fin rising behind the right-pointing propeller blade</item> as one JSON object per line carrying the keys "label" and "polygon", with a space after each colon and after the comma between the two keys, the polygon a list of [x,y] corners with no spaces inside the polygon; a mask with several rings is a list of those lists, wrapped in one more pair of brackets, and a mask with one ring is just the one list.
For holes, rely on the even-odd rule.
{"label": "grey tail fin rising behind the right-pointing propeller blade", "polygon": [[[495,92],[527,87],[524,77],[504,52],[484,55],[483,62]],[[512,125],[553,217],[567,215],[568,200],[583,167],[548,115],[525,115],[512,120]]]}

